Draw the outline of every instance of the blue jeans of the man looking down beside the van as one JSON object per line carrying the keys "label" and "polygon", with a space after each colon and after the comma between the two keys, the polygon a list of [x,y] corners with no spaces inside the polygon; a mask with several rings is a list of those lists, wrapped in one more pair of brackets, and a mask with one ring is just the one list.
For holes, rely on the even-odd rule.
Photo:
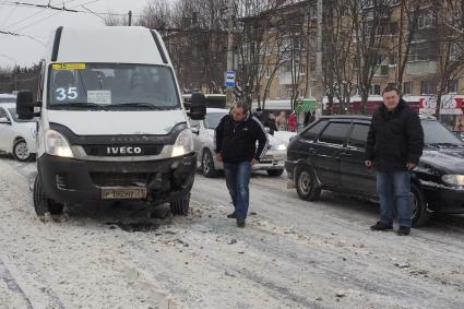
{"label": "blue jeans of the man looking down beside the van", "polygon": [[224,163],[227,189],[234,203],[237,218],[246,219],[250,205],[251,164],[248,161],[239,163]]}

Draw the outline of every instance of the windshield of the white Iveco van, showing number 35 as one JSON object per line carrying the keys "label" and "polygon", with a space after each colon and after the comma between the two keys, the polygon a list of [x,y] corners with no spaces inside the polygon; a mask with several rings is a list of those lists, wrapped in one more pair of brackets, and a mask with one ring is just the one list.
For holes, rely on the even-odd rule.
{"label": "windshield of the white Iveco van, showing number 35", "polygon": [[172,109],[179,97],[168,67],[120,63],[55,63],[50,109]]}

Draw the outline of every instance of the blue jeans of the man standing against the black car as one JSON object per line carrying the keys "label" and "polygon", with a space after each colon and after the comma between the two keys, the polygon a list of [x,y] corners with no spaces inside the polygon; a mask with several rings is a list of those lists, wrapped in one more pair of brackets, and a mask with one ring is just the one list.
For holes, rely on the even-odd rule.
{"label": "blue jeans of the man standing against the black car", "polygon": [[377,193],[380,198],[380,222],[393,224],[396,206],[400,226],[411,227],[411,174],[409,171],[377,171]]}

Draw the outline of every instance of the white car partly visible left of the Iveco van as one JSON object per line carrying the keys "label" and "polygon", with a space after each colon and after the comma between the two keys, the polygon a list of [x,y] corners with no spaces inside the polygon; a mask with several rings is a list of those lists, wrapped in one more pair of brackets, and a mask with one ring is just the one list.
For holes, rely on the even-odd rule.
{"label": "white car partly visible left of the Iveco van", "polygon": [[21,162],[31,161],[36,154],[36,122],[20,120],[16,104],[0,105],[0,152],[11,153]]}

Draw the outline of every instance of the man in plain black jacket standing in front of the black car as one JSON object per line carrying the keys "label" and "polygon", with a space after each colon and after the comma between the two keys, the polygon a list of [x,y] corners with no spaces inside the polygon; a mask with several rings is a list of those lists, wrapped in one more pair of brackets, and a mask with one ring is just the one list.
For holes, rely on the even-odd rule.
{"label": "man in plain black jacket standing in front of the black car", "polygon": [[400,228],[397,235],[408,235],[412,226],[409,202],[411,173],[423,154],[424,131],[419,116],[403,99],[398,90],[383,90],[383,105],[372,116],[366,166],[377,169],[377,192],[380,198],[380,221],[372,230],[393,228],[393,207],[396,206]]}

